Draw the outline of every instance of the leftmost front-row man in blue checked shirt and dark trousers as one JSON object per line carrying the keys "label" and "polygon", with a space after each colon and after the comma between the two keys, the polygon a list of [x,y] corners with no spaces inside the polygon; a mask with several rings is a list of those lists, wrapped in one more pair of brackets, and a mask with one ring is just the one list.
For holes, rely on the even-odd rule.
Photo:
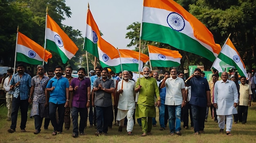
{"label": "leftmost front-row man in blue checked shirt and dark trousers", "polygon": [[17,73],[14,74],[10,81],[10,89],[13,89],[12,111],[11,111],[11,128],[7,132],[13,133],[16,129],[18,111],[20,108],[21,132],[26,132],[27,109],[29,106],[29,91],[31,87],[31,76],[25,73],[25,65],[17,65]]}

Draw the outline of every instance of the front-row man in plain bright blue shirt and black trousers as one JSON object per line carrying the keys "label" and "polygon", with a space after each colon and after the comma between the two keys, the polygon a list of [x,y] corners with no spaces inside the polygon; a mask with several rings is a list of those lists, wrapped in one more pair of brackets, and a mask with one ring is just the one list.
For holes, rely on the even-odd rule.
{"label": "front-row man in plain bright blue shirt and black trousers", "polygon": [[[62,67],[55,67],[55,75],[49,80],[46,90],[49,91],[49,117],[54,127],[52,135],[56,135],[57,131],[62,132],[64,123],[65,108],[69,106],[69,82],[67,78],[62,76]],[[47,102],[47,101],[46,101]],[[58,123],[56,121],[56,110],[58,108]]]}

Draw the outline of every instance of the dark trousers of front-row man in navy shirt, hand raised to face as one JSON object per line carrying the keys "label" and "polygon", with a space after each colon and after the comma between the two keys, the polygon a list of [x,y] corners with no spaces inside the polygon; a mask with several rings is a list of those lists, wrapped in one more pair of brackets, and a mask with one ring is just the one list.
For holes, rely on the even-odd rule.
{"label": "dark trousers of front-row man in navy shirt, hand raised to face", "polygon": [[201,130],[204,130],[206,107],[200,107],[191,104],[191,111],[194,123],[194,131],[199,132]]}

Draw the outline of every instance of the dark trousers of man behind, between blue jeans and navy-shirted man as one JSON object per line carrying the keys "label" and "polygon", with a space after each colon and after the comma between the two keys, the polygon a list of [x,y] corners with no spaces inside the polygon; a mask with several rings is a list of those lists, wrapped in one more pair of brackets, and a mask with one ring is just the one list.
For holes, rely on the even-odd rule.
{"label": "dark trousers of man behind, between blue jeans and navy-shirted man", "polygon": [[189,102],[186,103],[186,106],[183,107],[183,128],[189,127],[189,117],[191,124],[190,126],[193,127],[193,117],[192,117],[192,111],[191,111],[191,105]]}

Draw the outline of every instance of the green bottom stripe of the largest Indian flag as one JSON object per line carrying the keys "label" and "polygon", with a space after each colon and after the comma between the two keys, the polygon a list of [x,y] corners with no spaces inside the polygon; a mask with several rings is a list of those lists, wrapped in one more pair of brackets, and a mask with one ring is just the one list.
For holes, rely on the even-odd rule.
{"label": "green bottom stripe of the largest Indian flag", "polygon": [[210,50],[205,48],[198,41],[170,27],[144,22],[142,23],[142,29],[141,39],[167,43],[177,49],[207,58],[212,62],[216,58]]}

